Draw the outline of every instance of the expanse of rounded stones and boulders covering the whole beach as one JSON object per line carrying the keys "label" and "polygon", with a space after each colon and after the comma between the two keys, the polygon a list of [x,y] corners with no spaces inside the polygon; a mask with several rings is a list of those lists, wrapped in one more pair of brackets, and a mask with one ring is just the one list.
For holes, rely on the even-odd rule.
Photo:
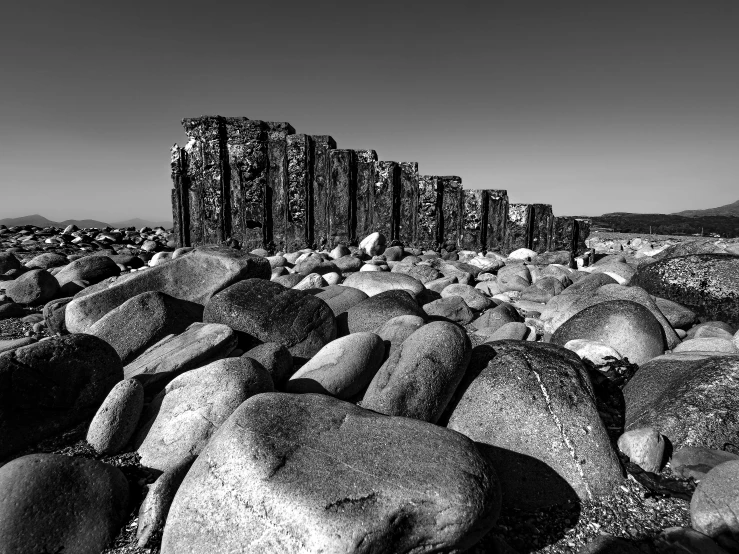
{"label": "expanse of rounded stones and boulders covering the whole beach", "polygon": [[0,226],[0,554],[739,553],[736,241],[373,217]]}

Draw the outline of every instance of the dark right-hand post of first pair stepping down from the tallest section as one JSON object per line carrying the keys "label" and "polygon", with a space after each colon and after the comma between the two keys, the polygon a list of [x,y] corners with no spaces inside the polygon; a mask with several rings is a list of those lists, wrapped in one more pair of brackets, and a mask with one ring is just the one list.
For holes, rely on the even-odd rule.
{"label": "dark right-hand post of first pair stepping down from the tallest section", "polygon": [[313,184],[312,202],[309,203],[308,228],[314,248],[322,250],[328,245],[328,197],[331,181],[331,159],[329,153],[336,149],[336,141],[328,135],[313,135]]}

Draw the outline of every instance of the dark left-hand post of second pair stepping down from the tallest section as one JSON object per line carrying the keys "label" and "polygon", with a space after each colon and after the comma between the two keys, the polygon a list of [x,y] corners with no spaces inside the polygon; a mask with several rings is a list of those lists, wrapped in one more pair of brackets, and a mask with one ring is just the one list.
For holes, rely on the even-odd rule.
{"label": "dark left-hand post of second pair stepping down from the tallest section", "polygon": [[329,159],[327,248],[334,248],[356,240],[357,156],[353,150],[331,150]]}

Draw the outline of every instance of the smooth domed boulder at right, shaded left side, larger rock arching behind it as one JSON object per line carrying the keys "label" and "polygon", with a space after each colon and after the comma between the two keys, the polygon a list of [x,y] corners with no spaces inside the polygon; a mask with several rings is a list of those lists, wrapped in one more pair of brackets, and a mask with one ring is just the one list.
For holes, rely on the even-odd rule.
{"label": "smooth domed boulder at right, shaded left side, larger rock arching behind it", "polygon": [[554,332],[551,342],[564,346],[574,339],[602,342],[639,365],[664,353],[659,322],[647,308],[629,300],[600,302],[576,313]]}

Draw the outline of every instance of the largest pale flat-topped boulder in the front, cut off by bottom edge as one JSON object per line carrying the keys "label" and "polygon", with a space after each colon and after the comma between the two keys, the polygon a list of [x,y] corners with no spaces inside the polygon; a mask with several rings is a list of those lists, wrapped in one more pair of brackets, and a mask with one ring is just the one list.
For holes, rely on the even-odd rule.
{"label": "largest pale flat-topped boulder in the front, cut off by bottom edge", "polygon": [[458,552],[499,507],[495,473],[457,433],[324,395],[262,394],[188,472],[161,551]]}

